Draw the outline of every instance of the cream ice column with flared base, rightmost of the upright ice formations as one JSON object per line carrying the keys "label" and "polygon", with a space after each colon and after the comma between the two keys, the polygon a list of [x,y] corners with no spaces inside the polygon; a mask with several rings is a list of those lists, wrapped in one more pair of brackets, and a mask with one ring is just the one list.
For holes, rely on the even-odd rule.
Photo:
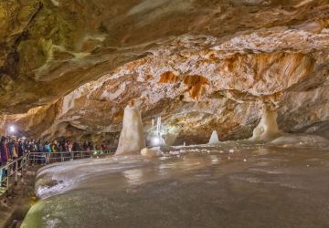
{"label": "cream ice column with flared base, rightmost of the upright ice formations", "polygon": [[253,130],[250,140],[268,141],[281,136],[278,128],[278,113],[269,109],[263,109],[259,125]]}

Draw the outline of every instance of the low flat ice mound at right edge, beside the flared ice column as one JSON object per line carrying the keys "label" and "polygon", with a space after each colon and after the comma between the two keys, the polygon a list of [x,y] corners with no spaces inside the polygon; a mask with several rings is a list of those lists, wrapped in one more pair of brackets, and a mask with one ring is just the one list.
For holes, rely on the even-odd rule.
{"label": "low flat ice mound at right edge, beside the flared ice column", "polygon": [[272,140],[271,144],[285,147],[325,147],[329,145],[329,141],[317,135],[287,134]]}

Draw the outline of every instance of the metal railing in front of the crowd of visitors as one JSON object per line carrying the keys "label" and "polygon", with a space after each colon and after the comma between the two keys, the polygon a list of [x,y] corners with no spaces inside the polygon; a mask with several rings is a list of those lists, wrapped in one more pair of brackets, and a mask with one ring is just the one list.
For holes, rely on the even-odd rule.
{"label": "metal railing in front of the crowd of visitors", "polygon": [[[28,166],[50,164],[62,161],[73,161],[85,158],[94,158],[110,154],[113,150],[80,150],[64,152],[29,152],[22,157],[10,161],[0,167],[0,196],[18,181]],[[19,172],[21,171],[21,172]],[[4,175],[6,173],[6,175]],[[15,175],[15,179],[14,179]],[[5,185],[5,186],[4,186]]]}

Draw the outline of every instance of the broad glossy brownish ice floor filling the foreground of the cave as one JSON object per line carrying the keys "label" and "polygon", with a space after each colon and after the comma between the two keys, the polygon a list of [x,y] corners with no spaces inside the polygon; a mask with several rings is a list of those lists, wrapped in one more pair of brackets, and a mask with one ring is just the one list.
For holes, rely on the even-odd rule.
{"label": "broad glossy brownish ice floor filling the foreground of the cave", "polygon": [[329,227],[328,149],[196,146],[69,161],[39,171],[37,188],[22,227]]}

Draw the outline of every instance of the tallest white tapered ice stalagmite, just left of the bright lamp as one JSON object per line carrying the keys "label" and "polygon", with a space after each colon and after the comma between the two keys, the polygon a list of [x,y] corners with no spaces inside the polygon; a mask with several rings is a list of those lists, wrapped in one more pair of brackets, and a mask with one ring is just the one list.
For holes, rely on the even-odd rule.
{"label": "tallest white tapered ice stalagmite, just left of the bright lamp", "polygon": [[115,155],[137,154],[145,147],[140,112],[137,108],[127,106],[124,109],[122,131]]}

